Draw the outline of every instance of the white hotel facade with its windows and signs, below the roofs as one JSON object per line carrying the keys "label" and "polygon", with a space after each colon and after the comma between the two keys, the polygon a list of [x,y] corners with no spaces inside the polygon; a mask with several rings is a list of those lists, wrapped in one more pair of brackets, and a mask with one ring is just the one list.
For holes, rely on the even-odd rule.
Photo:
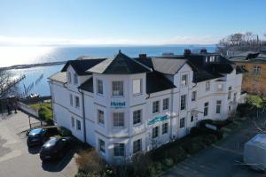
{"label": "white hotel facade with its windows and signs, below the roofs", "polygon": [[[218,79],[194,83],[192,67],[187,64],[165,75],[176,88],[150,94],[145,91],[147,73],[75,74],[69,65],[66,83],[50,81],[54,121],[94,146],[109,163],[121,163],[138,151],[181,138],[202,119],[227,119],[241,94],[241,73],[233,70]],[[93,92],[77,89],[91,77]],[[187,81],[182,81],[185,77]],[[122,96],[113,96],[113,81],[122,81]],[[139,94],[133,94],[133,81],[141,83],[134,90],[140,90]]]}

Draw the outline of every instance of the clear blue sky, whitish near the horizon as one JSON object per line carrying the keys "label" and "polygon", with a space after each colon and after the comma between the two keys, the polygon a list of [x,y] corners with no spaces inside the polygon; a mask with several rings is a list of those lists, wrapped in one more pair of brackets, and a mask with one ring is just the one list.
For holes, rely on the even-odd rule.
{"label": "clear blue sky, whitish near the horizon", "polygon": [[264,0],[0,0],[0,45],[214,44],[266,33]]}

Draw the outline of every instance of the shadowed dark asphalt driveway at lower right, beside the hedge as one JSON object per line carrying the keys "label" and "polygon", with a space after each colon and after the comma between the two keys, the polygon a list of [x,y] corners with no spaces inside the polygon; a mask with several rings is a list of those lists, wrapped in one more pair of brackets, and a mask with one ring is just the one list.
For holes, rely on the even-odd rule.
{"label": "shadowed dark asphalt driveway at lower right, beside the hedge", "polygon": [[[266,114],[262,114],[257,123],[262,125],[266,120]],[[234,176],[234,177],[256,177],[265,176],[263,173],[251,170],[242,165],[244,143],[258,133],[253,119],[246,119],[240,127],[231,132],[221,142],[213,144],[206,150],[185,159],[168,171],[165,176]]]}

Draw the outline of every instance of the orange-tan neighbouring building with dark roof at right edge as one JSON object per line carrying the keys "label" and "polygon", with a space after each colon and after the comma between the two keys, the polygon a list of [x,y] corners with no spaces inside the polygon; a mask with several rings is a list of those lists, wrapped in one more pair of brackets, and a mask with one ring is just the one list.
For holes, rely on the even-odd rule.
{"label": "orange-tan neighbouring building with dark roof at right edge", "polygon": [[230,58],[238,69],[245,70],[242,89],[249,93],[266,95],[266,55],[242,52]]}

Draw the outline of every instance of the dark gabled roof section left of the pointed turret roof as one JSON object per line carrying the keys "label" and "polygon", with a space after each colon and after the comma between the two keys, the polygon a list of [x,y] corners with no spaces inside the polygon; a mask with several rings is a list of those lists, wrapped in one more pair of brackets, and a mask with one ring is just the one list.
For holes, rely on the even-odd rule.
{"label": "dark gabled roof section left of the pointed turret roof", "polygon": [[67,67],[71,65],[74,68],[74,71],[78,75],[88,75],[86,73],[91,67],[98,65],[100,62],[106,60],[106,58],[78,58],[76,60],[69,60],[66,62],[66,65],[63,67],[61,72],[66,72]]}

